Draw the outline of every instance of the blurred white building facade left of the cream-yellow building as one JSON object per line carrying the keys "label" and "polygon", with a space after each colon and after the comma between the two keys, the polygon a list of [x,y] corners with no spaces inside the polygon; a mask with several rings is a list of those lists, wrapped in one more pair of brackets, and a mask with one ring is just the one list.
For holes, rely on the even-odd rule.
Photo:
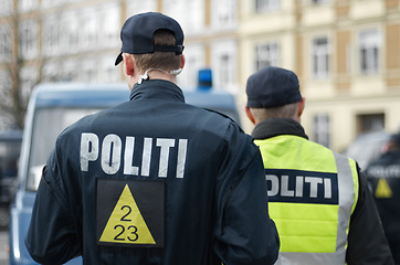
{"label": "blurred white building facade left of the cream-yellow building", "polygon": [[[20,82],[28,98],[40,82],[123,81],[114,66],[122,24],[134,13],[159,11],[186,32],[179,84],[196,88],[198,70],[210,67],[215,88],[238,92],[236,0],[2,0],[0,10],[0,91]],[[19,81],[9,71],[13,62]]]}

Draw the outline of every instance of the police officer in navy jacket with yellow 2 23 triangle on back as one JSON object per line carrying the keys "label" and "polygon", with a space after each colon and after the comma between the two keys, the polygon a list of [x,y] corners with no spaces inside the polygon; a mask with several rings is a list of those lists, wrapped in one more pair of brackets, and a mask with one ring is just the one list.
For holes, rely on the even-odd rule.
{"label": "police officer in navy jacket with yellow 2 23 triangle on back", "polygon": [[273,264],[262,158],[231,119],[185,104],[183,32],[148,12],[120,32],[130,100],[65,129],[25,245],[39,263]]}

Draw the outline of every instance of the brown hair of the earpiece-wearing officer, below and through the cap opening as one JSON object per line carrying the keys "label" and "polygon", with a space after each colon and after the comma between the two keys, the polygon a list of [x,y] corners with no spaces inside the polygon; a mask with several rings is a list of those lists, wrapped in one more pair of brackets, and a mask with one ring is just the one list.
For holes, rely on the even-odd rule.
{"label": "brown hair of the earpiece-wearing officer, below and through the cap opening", "polygon": [[[168,30],[157,30],[152,36],[156,45],[175,45],[175,35]],[[139,72],[149,68],[165,71],[177,70],[180,66],[180,55],[175,52],[154,52],[145,54],[133,54]]]}

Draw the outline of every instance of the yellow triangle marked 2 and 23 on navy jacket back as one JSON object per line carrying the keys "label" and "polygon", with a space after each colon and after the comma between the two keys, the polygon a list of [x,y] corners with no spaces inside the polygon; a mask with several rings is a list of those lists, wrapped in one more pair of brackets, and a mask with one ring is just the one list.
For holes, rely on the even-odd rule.
{"label": "yellow triangle marked 2 and 23 on navy jacket back", "polygon": [[99,241],[123,244],[156,244],[127,184]]}

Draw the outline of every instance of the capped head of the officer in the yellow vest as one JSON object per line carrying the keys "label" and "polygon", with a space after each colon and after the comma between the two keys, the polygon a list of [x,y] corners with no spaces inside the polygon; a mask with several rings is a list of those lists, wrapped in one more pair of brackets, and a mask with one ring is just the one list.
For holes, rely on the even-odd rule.
{"label": "capped head of the officer in the yellow vest", "polygon": [[245,112],[253,124],[267,118],[293,118],[299,121],[305,98],[292,71],[266,66],[251,75],[246,84]]}

